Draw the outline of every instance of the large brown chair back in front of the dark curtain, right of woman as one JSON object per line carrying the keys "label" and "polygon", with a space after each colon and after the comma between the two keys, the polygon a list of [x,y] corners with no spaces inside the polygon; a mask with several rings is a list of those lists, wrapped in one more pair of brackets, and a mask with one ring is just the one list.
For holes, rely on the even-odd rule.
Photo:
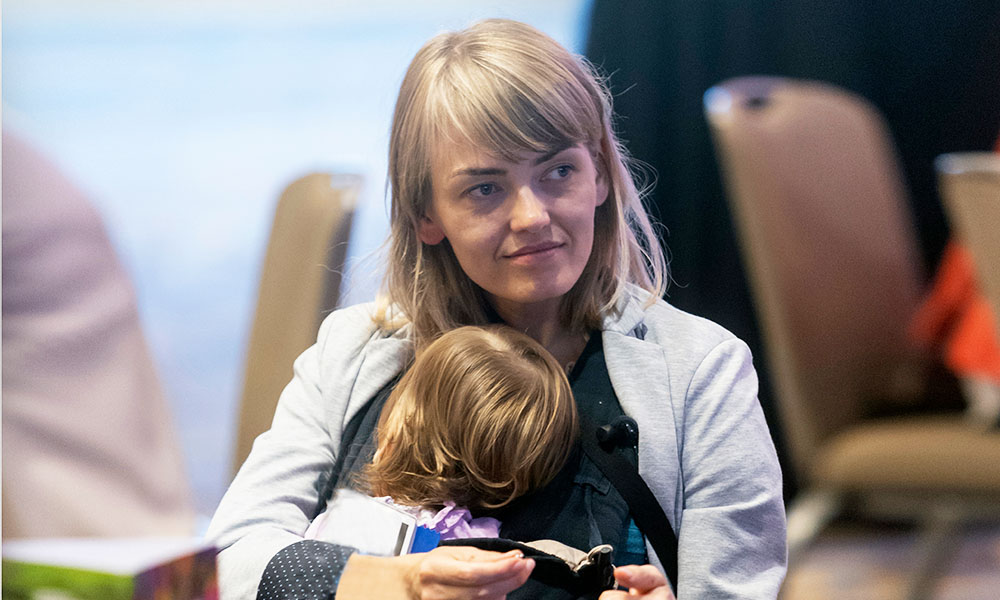
{"label": "large brown chair back in front of the dark curtain, right of woman", "polygon": [[[705,110],[799,476],[818,445],[923,386],[921,273],[879,114],[829,85],[744,77]],[[900,400],[897,400],[900,399]]]}

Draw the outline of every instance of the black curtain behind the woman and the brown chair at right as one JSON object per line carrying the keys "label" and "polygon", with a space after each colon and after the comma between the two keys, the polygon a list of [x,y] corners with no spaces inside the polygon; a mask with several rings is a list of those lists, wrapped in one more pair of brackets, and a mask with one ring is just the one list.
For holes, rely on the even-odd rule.
{"label": "black curtain behind the woman and the brown chair at right", "polygon": [[[586,54],[609,75],[621,137],[656,173],[675,306],[750,345],[787,462],[702,95],[739,75],[827,81],[872,101],[895,138],[928,272],[948,239],[934,157],[1000,130],[1000,2],[595,0]],[[786,498],[795,492],[785,469]]]}

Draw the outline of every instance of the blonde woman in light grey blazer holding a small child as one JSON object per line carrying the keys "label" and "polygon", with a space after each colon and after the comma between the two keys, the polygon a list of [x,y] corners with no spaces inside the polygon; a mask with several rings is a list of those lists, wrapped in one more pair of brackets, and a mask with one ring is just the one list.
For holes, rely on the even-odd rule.
{"label": "blonde woman in light grey blazer holding a small child", "polygon": [[[516,555],[377,558],[302,540],[328,480],[342,475],[331,465],[343,462],[344,432],[348,447],[358,431],[364,442],[370,419],[359,415],[377,415],[372,399],[441,333],[491,322],[527,333],[571,372],[581,415],[638,422],[637,444],[621,452],[678,533],[680,598],[775,597],[781,474],[749,351],[660,299],[663,255],[614,136],[610,96],[585,61],[510,21],[433,38],[400,89],[389,178],[384,293],[375,307],[324,321],[213,520],[224,597],[542,593],[523,585],[533,563]],[[499,515],[504,537],[610,543],[616,564],[650,563],[616,571],[630,593],[672,596],[627,503],[585,456],[513,504]],[[616,594],[625,592],[602,597]]]}

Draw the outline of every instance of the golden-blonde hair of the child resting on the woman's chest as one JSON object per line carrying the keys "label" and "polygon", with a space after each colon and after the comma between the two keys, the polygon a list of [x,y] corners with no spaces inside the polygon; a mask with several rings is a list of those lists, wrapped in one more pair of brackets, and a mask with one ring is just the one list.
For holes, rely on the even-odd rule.
{"label": "golden-blonde hair of the child resting on the woman's chest", "polygon": [[576,438],[559,363],[509,327],[461,327],[434,341],[389,396],[363,472],[400,504],[497,508],[555,477]]}

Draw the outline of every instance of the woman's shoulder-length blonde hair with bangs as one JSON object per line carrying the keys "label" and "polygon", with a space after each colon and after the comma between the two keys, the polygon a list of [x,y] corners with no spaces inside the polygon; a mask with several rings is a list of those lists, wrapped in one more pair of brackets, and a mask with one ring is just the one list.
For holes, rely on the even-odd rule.
{"label": "woman's shoulder-length blonde hair with bangs", "polygon": [[432,195],[434,148],[456,143],[507,160],[582,143],[607,178],[590,259],[562,299],[564,326],[599,327],[629,283],[649,290],[650,303],[663,295],[663,250],[615,136],[603,80],[586,59],[537,29],[491,19],[432,38],[400,86],[389,141],[388,265],[376,317],[383,328],[398,327],[402,317],[420,348],[443,331],[489,321],[482,290],[450,245],[426,245],[417,236]]}

